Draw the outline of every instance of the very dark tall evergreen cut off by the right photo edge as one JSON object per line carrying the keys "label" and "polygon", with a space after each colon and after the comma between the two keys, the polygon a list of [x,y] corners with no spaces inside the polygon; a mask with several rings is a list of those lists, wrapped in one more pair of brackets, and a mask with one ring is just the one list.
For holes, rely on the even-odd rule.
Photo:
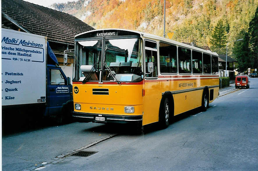
{"label": "very dark tall evergreen cut off by the right photo edge", "polygon": [[251,65],[250,67],[258,68],[258,7],[255,12],[254,18],[249,23],[248,33],[250,35],[250,48],[251,48]]}

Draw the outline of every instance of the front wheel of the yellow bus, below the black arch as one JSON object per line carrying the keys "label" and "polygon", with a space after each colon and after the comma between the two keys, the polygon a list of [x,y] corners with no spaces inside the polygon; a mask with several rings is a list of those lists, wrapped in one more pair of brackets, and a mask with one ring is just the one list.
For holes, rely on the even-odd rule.
{"label": "front wheel of the yellow bus, below the black arch", "polygon": [[170,113],[171,113],[171,107],[169,104],[169,99],[166,98],[163,103],[163,107],[160,110],[159,113],[159,124],[161,129],[165,129],[169,125],[169,119],[170,119]]}

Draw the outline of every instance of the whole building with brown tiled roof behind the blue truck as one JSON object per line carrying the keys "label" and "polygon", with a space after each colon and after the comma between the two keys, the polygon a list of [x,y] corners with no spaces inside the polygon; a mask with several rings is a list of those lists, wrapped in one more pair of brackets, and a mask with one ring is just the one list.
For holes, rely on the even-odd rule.
{"label": "whole building with brown tiled roof behind the blue truck", "polygon": [[[22,0],[1,0],[2,28],[47,36],[59,65],[64,50],[74,49],[74,36],[93,27],[73,15]],[[71,76],[73,56],[68,56],[64,72]]]}

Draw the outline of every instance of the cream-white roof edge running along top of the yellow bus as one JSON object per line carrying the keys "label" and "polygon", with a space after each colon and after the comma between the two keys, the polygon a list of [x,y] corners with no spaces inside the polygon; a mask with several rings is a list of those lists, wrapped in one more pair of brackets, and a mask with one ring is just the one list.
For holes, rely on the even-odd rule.
{"label": "cream-white roof edge running along top of the yellow bus", "polygon": [[202,51],[204,53],[208,53],[208,54],[218,56],[218,54],[216,52],[212,52],[212,51],[209,51],[209,50],[204,50],[204,49],[201,49],[201,48],[198,48],[198,47],[194,47],[194,46],[191,46],[191,45],[188,45],[188,44],[177,42],[177,41],[174,41],[174,40],[171,40],[171,39],[163,38],[163,37],[160,37],[160,36],[157,36],[157,35],[144,33],[144,32],[140,32],[140,31],[127,30],[127,29],[97,29],[97,30],[91,30],[91,31],[86,31],[84,33],[80,33],[78,35],[75,35],[75,38],[80,36],[80,35],[86,34],[86,33],[97,32],[97,31],[105,31],[105,30],[121,30],[121,31],[134,32],[134,33],[138,33],[139,35],[141,35],[144,38],[161,40],[161,41],[169,42],[169,43],[172,43],[172,44],[175,44],[175,45],[178,45],[178,46],[182,46],[182,47],[186,47],[186,48],[189,48],[189,49],[198,50],[198,51]]}

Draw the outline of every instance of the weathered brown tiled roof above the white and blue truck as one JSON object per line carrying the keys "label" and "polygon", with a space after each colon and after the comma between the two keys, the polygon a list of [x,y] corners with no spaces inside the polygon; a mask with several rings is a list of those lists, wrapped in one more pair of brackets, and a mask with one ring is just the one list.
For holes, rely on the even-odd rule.
{"label": "weathered brown tiled roof above the white and blue truck", "polygon": [[93,27],[73,15],[22,0],[1,0],[2,12],[48,41],[74,44],[74,36]]}

